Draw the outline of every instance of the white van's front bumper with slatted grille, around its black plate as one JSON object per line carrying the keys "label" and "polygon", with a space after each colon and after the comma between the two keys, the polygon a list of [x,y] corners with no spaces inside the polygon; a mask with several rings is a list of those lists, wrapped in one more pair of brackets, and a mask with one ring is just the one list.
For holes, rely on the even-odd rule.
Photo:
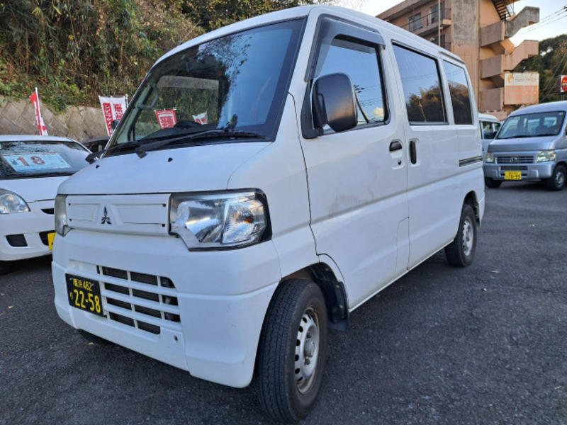
{"label": "white van's front bumper with slatted grille, around its black plate", "polygon": [[[233,387],[252,379],[264,315],[281,278],[270,241],[189,252],[175,237],[77,229],[57,235],[52,273],[57,314],[72,327]],[[66,273],[100,282],[104,317],[69,305]],[[172,285],[150,285],[152,276]],[[147,314],[144,306],[162,311]]]}

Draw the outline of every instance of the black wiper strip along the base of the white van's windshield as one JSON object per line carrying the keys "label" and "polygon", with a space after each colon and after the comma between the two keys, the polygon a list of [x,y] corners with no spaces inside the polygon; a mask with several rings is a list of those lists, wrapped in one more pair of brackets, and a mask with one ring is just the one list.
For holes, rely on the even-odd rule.
{"label": "black wiper strip along the base of the white van's windshield", "polygon": [[88,157],[86,157],[86,161],[89,164],[94,162],[94,159],[100,157],[101,154],[111,152],[113,150],[122,150],[126,147],[134,147],[134,152],[137,154],[138,157],[143,158],[146,156],[146,152],[152,149],[158,149],[159,147],[167,146],[167,145],[174,145],[178,142],[184,142],[187,140],[202,140],[202,139],[214,139],[214,138],[229,138],[229,139],[265,139],[266,136],[256,132],[248,132],[244,130],[232,130],[232,129],[224,129],[218,128],[215,130],[207,130],[203,132],[193,133],[190,135],[182,135],[179,137],[172,137],[170,139],[145,139],[140,141],[130,140],[130,142],[125,142],[122,145],[114,145],[111,148],[93,152]]}

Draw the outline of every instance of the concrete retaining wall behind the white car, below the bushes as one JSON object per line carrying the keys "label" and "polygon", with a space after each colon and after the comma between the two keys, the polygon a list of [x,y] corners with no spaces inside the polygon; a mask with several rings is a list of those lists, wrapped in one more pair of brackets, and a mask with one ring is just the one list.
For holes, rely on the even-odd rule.
{"label": "concrete retaining wall behind the white car, below the bushes", "polygon": [[[61,114],[52,113],[44,103],[40,103],[40,108],[50,136],[71,137],[79,142],[106,136],[101,108],[69,106]],[[29,99],[16,100],[0,96],[0,134],[39,134],[35,124],[35,111]]]}

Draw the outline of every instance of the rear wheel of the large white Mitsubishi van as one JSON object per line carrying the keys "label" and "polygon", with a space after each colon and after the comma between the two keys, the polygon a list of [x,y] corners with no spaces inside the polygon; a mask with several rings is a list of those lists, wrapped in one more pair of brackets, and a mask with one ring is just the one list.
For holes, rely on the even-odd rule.
{"label": "rear wheel of the large white Mitsubishi van", "polygon": [[445,247],[445,256],[451,266],[466,267],[473,263],[476,249],[477,225],[471,205],[464,204],[459,230],[453,242]]}

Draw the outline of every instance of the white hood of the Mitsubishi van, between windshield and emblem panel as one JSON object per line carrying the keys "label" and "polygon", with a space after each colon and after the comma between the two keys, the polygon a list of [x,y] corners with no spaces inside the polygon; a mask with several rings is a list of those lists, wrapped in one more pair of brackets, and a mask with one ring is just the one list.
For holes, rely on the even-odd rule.
{"label": "white hood of the Mitsubishi van, between windshield and emblem panel", "polygon": [[65,181],[62,194],[105,195],[225,190],[232,173],[270,142],[230,142],[100,159]]}

